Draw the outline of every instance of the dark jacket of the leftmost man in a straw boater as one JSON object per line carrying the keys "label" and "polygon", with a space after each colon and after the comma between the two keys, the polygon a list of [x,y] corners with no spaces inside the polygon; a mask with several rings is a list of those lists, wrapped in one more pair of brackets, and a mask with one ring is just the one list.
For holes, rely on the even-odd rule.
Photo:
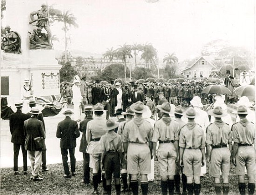
{"label": "dark jacket of the leftmost man in a straw boater", "polygon": [[10,115],[10,131],[12,134],[12,142],[24,144],[26,136],[24,135],[24,121],[29,119],[29,116],[22,113],[20,109],[17,109],[16,113]]}

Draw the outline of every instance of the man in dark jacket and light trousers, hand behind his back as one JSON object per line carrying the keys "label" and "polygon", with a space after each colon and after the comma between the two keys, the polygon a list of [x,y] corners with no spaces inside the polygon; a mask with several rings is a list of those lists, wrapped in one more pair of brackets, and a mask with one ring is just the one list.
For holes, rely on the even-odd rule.
{"label": "man in dark jacket and light trousers, hand behind his back", "polygon": [[[42,121],[37,119],[37,115],[41,113],[40,109],[33,107],[30,111],[31,118],[24,121],[24,134],[26,136],[25,149],[28,150],[28,157],[31,162],[33,181],[41,181],[43,178],[39,176],[39,170],[42,162],[42,150],[45,148],[45,133]],[[40,146],[36,143],[40,142]]]}

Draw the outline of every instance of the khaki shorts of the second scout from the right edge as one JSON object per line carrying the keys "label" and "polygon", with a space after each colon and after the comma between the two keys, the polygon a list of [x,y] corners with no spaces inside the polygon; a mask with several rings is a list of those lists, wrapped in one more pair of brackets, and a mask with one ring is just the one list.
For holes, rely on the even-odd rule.
{"label": "khaki shorts of the second scout from the right edge", "polygon": [[230,167],[230,151],[229,148],[214,148],[211,150],[210,157],[210,175],[219,177],[221,175],[229,175]]}

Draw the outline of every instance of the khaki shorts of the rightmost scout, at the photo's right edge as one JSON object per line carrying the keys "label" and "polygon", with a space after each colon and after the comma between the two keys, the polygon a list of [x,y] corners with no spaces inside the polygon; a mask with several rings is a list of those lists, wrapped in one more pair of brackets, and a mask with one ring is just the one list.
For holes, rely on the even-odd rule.
{"label": "khaki shorts of the rightmost scout, at the photo's right edge", "polygon": [[247,175],[255,175],[255,149],[253,146],[239,146],[236,154],[236,175],[244,175],[244,167]]}

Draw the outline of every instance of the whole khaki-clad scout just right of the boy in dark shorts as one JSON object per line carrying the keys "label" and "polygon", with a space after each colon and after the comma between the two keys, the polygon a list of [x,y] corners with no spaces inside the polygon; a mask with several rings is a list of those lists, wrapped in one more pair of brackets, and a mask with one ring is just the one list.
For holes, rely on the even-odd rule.
{"label": "whole khaki-clad scout just right of the boy in dark shorts", "polygon": [[142,113],[146,111],[146,106],[141,101],[131,105],[131,110],[135,112],[135,117],[125,123],[122,141],[124,155],[127,159],[127,171],[131,174],[132,192],[138,195],[138,169],[141,174],[142,195],[148,194],[148,174],[151,170],[150,157],[152,155],[153,128],[148,121],[142,118]]}

